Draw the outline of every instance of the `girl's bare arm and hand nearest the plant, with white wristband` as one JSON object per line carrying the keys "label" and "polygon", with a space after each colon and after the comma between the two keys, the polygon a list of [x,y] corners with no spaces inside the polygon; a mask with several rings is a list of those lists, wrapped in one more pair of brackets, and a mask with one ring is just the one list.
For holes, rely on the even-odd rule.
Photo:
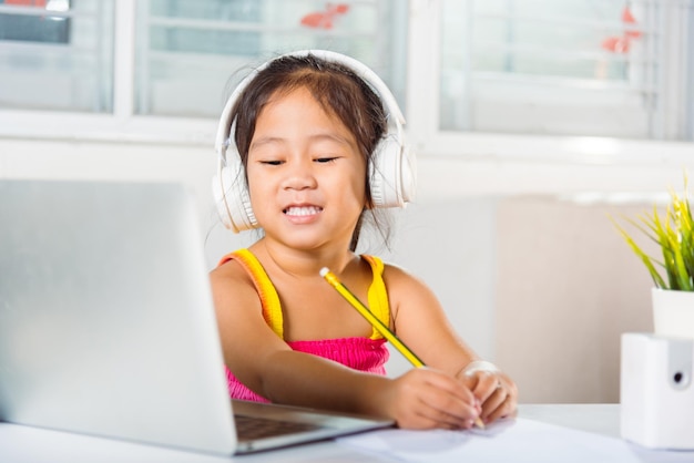
{"label": "girl's bare arm and hand nearest the plant, with white wristband", "polygon": [[482,361],[456,335],[429,287],[394,266],[386,266],[384,280],[396,335],[428,367],[468,385],[482,405],[484,422],[514,414],[516,383],[492,363]]}

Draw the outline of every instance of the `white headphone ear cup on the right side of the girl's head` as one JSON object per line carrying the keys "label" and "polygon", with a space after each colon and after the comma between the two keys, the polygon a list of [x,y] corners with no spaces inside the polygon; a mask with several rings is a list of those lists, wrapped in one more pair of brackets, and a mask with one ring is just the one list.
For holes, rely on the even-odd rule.
{"label": "white headphone ear cup on the right side of the girl's head", "polygon": [[416,166],[397,136],[381,140],[371,158],[371,200],[375,207],[405,207],[415,197]]}

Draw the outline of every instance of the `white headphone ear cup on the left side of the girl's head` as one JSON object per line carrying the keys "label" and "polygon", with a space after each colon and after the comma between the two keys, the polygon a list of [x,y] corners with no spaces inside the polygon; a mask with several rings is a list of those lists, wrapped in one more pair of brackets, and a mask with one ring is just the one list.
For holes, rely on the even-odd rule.
{"label": "white headphone ear cup on the left side of the girl's head", "polygon": [[258,223],[251,206],[241,157],[238,153],[227,152],[226,158],[231,162],[212,179],[212,194],[217,214],[224,226],[234,233],[257,228]]}

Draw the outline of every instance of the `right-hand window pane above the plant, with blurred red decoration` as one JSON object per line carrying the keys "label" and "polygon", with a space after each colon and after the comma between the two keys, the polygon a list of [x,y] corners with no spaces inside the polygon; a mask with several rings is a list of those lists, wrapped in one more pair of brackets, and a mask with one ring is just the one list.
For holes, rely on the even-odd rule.
{"label": "right-hand window pane above the plant, with blurred red decoration", "polygon": [[681,140],[692,11],[682,0],[443,0],[439,127]]}

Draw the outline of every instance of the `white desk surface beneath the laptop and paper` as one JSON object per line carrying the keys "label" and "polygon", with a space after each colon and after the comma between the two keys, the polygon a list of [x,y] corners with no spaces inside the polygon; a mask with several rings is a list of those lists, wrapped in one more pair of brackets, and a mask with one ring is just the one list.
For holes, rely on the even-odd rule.
{"label": "white desk surface beneath the laptop and paper", "polygon": [[[519,416],[583,431],[619,436],[619,404],[525,404]],[[694,453],[691,454],[694,460]],[[318,442],[297,447],[224,459],[171,449],[62,433],[0,423],[0,461],[34,462],[387,462],[336,442]]]}

